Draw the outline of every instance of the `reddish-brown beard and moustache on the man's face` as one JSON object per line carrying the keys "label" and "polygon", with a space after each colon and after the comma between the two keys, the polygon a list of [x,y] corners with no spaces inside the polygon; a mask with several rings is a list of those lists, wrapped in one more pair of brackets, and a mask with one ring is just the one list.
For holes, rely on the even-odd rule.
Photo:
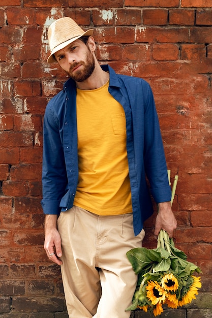
{"label": "reddish-brown beard and moustache on the man's face", "polygon": [[[82,67],[80,70],[75,71],[72,73],[72,70],[77,67],[78,65],[81,65]],[[87,50],[85,61],[81,61],[79,63],[75,62],[72,64],[72,66],[69,69],[69,72],[67,73],[75,82],[83,82],[85,81],[95,69],[95,60],[92,52],[90,49]]]}

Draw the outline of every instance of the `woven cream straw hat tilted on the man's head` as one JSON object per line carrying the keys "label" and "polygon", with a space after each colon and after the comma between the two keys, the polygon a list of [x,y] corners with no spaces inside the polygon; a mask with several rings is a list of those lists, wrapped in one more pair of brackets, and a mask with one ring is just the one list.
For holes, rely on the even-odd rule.
{"label": "woven cream straw hat tilted on the man's head", "polygon": [[54,53],[65,48],[70,43],[82,36],[92,36],[94,29],[84,31],[74,20],[69,17],[54,21],[48,29],[48,40],[51,54],[48,63],[54,63]]}

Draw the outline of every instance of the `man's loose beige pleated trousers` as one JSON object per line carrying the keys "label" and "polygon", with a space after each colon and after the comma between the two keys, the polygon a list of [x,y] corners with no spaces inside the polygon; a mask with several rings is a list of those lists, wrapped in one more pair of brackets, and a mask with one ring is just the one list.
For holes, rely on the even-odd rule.
{"label": "man's loose beige pleated trousers", "polygon": [[57,220],[61,266],[71,318],[129,318],[137,275],[126,257],[144,237],[133,232],[132,213],[99,216],[74,206]]}

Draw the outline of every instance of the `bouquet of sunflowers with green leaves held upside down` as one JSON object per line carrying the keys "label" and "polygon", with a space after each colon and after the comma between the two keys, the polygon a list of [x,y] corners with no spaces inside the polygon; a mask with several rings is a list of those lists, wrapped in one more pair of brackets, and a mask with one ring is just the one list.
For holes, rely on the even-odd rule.
{"label": "bouquet of sunflowers with green leaves held upside down", "polygon": [[[177,178],[171,203],[176,182]],[[201,282],[194,272],[201,273],[201,270],[187,261],[185,253],[174,246],[166,231],[160,231],[157,248],[134,248],[127,252],[127,257],[138,282],[132,305],[126,310],[152,310],[157,316],[163,312],[163,305],[175,309],[189,304],[198,295]]]}

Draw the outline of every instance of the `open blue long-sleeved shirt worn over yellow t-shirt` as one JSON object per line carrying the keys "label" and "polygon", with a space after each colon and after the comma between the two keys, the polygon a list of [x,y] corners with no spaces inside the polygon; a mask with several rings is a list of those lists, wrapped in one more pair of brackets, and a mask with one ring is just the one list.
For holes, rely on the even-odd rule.
{"label": "open blue long-sleeved shirt worn over yellow t-shirt", "polygon": [[[156,203],[171,200],[158,115],[146,81],[118,75],[109,66],[102,68],[110,74],[109,93],[126,115],[134,233],[138,235],[153,213],[150,194]],[[45,214],[59,214],[72,208],[78,183],[76,84],[71,78],[48,103],[43,133],[41,204]]]}

